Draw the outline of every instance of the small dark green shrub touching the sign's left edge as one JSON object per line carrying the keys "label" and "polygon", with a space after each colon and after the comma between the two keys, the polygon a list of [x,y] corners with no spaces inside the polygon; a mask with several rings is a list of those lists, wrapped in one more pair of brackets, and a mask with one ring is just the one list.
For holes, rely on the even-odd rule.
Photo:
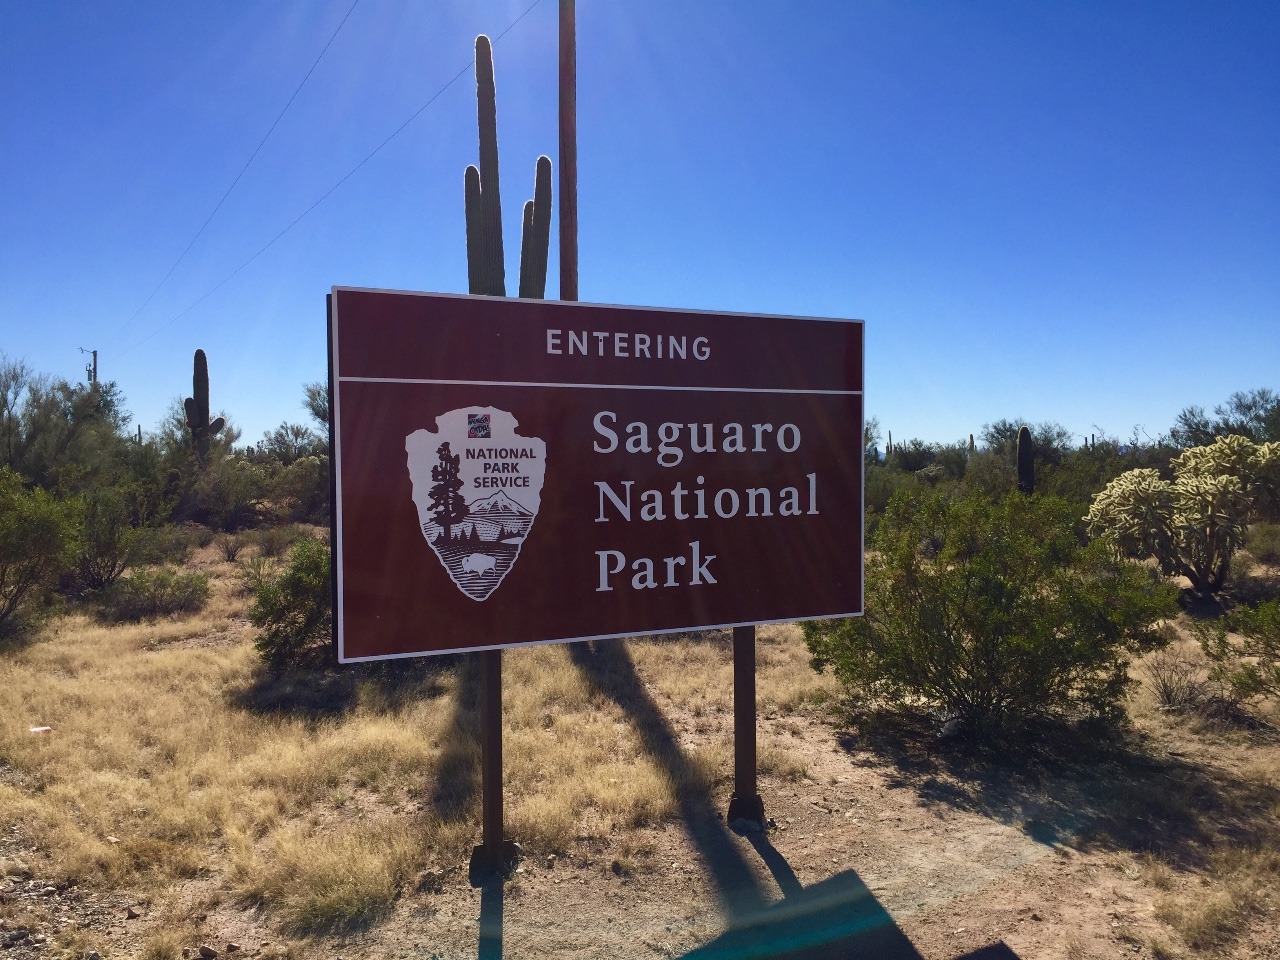
{"label": "small dark green shrub touching the sign's left edge", "polygon": [[289,548],[284,570],[253,595],[248,618],[262,632],[257,650],[273,669],[317,666],[329,654],[333,623],[329,547],[303,538]]}

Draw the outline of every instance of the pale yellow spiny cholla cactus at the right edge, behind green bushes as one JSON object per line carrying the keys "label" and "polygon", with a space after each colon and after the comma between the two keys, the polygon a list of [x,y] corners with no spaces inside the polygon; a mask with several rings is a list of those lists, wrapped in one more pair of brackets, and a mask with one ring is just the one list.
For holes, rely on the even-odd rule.
{"label": "pale yellow spiny cholla cactus at the right edge, behind green bushes", "polygon": [[1174,461],[1174,481],[1155,470],[1121,474],[1093,498],[1089,532],[1108,536],[1126,557],[1155,557],[1192,590],[1222,589],[1249,521],[1275,497],[1280,444],[1224,436]]}

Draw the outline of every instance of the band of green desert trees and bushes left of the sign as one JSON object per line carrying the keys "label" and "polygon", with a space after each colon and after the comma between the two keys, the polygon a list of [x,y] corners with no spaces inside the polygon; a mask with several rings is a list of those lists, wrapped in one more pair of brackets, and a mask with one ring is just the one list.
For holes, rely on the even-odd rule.
{"label": "band of green desert trees and bushes left of the sign", "polygon": [[256,444],[228,421],[204,453],[178,397],[143,431],[114,381],[70,383],[0,353],[0,635],[59,598],[105,594],[131,567],[163,559],[175,531],[326,524],[324,384],[303,387],[302,406],[308,422],[283,422]]}

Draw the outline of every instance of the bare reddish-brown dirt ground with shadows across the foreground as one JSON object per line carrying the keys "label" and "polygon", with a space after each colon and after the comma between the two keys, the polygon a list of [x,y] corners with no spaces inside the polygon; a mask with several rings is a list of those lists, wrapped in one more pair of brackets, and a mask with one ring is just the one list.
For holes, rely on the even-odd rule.
{"label": "bare reddish-brown dirt ground with shadows across the foreground", "polygon": [[[731,713],[694,717],[639,680],[613,692],[655,753],[675,742],[687,758],[730,733]],[[767,833],[728,828],[726,780],[673,822],[530,855],[506,882],[475,887],[463,860],[435,863],[389,918],[342,937],[289,938],[225,896],[215,863],[161,892],[49,882],[22,824],[0,824],[0,959],[1193,956],[1171,920],[1217,895],[1212,859],[1280,809],[1280,741],[1134,714],[1110,745],[1001,755],[923,727],[852,728],[833,705],[767,712],[762,751],[804,769],[762,777]],[[22,786],[3,763],[0,778]],[[1257,902],[1210,954],[1280,957],[1275,899]],[[157,940],[174,918],[189,936]]]}

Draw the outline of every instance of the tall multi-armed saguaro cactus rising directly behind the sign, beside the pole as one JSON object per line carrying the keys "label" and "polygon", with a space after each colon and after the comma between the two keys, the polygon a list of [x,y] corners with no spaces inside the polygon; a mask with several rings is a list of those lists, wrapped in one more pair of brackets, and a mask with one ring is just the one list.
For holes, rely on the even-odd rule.
{"label": "tall multi-armed saguaro cactus rising directly behind the sign, beside the pole", "polygon": [[[484,35],[476,37],[476,122],[480,127],[480,166],[467,166],[462,178],[467,216],[467,289],[506,297],[498,187],[498,92],[493,76],[493,46]],[[524,214],[520,296],[540,300],[547,293],[547,251],[552,232],[550,157],[538,157],[534,198],[525,204]]]}

